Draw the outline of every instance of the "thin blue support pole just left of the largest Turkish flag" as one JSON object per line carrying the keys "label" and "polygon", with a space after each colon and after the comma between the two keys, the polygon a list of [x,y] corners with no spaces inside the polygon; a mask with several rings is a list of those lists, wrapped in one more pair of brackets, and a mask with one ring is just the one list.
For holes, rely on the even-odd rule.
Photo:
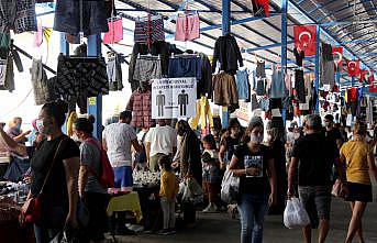
{"label": "thin blue support pole just left of the largest Turkish flag", "polygon": [[[287,75],[287,45],[288,45],[288,0],[281,0],[281,74],[282,78],[286,78]],[[286,110],[282,109],[281,118],[284,122],[284,128],[286,128]],[[285,134],[285,133],[284,133]]]}

